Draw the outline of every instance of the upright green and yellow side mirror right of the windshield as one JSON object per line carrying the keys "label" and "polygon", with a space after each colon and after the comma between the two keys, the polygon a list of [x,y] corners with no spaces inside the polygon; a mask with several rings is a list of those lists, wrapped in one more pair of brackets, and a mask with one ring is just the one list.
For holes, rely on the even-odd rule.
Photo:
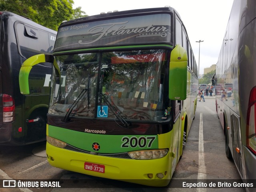
{"label": "upright green and yellow side mirror right of the windshield", "polygon": [[169,99],[185,100],[187,93],[188,55],[181,45],[171,52],[169,68]]}

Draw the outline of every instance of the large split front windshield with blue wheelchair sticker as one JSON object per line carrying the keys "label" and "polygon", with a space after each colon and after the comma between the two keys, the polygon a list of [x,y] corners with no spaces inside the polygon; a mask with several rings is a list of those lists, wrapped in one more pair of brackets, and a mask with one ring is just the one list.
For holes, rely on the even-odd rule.
{"label": "large split front windshield with blue wheelchair sticker", "polygon": [[170,116],[168,54],[154,49],[55,56],[62,82],[53,90],[58,95],[52,95],[49,114],[65,116],[81,97],[70,118],[116,118],[117,111],[123,119],[165,121]]}

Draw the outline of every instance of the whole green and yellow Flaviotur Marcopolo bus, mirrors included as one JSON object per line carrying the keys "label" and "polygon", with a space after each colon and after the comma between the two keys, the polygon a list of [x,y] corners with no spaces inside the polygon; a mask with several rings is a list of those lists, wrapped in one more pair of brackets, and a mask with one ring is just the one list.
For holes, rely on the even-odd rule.
{"label": "whole green and yellow Flaviotur Marcopolo bus, mirrors included", "polygon": [[112,12],[60,25],[46,153],[52,166],[148,186],[170,182],[196,111],[198,74],[186,29],[170,7]]}

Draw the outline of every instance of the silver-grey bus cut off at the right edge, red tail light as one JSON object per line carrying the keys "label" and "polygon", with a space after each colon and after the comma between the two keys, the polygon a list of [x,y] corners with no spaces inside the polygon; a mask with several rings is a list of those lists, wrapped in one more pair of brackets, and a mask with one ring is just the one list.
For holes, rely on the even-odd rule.
{"label": "silver-grey bus cut off at the right edge, red tail light", "polygon": [[226,136],[226,156],[244,182],[256,178],[255,7],[256,1],[234,0],[212,81],[221,93],[216,111]]}

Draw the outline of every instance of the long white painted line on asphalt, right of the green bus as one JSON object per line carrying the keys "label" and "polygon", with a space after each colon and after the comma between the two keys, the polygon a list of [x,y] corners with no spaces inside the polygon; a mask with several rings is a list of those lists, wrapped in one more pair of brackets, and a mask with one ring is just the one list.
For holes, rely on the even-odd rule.
{"label": "long white painted line on asphalt, right of the green bus", "polygon": [[[204,163],[204,134],[203,114],[200,113],[199,138],[198,138],[198,176],[197,179],[206,179],[206,166]],[[197,192],[205,192],[206,188],[197,188]]]}

